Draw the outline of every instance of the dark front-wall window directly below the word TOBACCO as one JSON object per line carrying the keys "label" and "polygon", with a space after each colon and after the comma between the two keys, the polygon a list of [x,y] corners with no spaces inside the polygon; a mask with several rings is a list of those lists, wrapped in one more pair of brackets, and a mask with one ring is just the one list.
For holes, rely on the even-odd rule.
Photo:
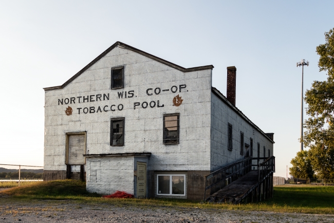
{"label": "dark front-wall window directly below the word TOBACCO", "polygon": [[110,121],[110,145],[124,145],[124,118],[112,119]]}

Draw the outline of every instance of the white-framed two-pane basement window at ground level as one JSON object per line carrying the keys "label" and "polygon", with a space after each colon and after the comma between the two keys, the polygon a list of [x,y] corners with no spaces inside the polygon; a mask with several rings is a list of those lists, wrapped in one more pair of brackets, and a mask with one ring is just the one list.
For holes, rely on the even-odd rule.
{"label": "white-framed two-pane basement window at ground level", "polygon": [[185,174],[158,174],[157,195],[185,196]]}

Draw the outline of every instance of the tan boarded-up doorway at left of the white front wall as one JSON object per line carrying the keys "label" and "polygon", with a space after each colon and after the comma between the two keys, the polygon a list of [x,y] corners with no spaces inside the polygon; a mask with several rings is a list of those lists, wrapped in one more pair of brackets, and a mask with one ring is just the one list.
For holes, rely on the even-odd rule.
{"label": "tan boarded-up doorway at left of the white front wall", "polygon": [[66,135],[66,164],[83,165],[85,164],[86,154],[86,135],[85,134],[67,134]]}

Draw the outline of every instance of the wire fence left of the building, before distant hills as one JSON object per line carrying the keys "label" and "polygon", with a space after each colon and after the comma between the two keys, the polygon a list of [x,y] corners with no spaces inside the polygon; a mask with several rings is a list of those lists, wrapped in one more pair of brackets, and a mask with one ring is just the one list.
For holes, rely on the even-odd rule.
{"label": "wire fence left of the building, before distant hills", "polygon": [[42,181],[43,166],[0,164],[0,183]]}

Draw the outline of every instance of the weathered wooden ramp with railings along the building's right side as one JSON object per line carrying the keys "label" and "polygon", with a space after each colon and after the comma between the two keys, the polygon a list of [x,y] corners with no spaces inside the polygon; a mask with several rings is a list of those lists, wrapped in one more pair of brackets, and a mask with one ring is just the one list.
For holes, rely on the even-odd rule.
{"label": "weathered wooden ramp with railings along the building's right side", "polygon": [[[262,163],[258,160],[263,159]],[[253,164],[257,161],[258,164]],[[254,170],[254,169],[257,170]],[[252,170],[253,169],[253,170]],[[252,158],[232,163],[206,176],[204,200],[209,202],[254,202],[272,197],[275,157]]]}

